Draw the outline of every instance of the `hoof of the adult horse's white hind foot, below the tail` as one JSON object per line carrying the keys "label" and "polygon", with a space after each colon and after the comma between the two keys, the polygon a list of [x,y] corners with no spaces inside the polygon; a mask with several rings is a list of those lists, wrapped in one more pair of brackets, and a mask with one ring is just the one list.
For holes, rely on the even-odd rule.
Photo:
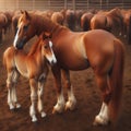
{"label": "hoof of the adult horse's white hind foot, below the tail", "polygon": [[96,116],[95,120],[93,122],[94,126],[107,126],[109,123],[109,120],[100,117],[100,116]]}

